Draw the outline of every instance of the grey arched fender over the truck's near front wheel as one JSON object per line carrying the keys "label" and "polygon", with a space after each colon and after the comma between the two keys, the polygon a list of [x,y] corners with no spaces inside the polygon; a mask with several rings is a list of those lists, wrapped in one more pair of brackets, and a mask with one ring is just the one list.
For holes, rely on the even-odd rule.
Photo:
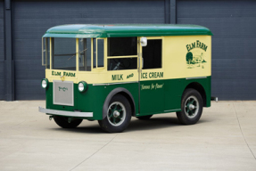
{"label": "grey arched fender over the truck's near front wheel", "polygon": [[111,102],[111,98],[116,94],[121,94],[127,98],[128,102],[130,103],[130,106],[131,106],[132,116],[135,116],[136,108],[135,108],[135,102],[134,102],[134,98],[133,98],[132,94],[127,89],[119,87],[119,88],[113,89],[111,91],[111,93],[108,94],[108,96],[106,97],[106,99],[103,103],[103,118],[105,118],[107,116],[107,110],[109,107],[109,103]]}

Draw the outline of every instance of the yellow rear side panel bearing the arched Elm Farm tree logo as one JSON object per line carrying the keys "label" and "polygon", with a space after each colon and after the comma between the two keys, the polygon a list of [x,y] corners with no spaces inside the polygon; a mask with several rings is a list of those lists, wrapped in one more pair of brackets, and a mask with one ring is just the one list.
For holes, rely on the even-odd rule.
{"label": "yellow rear side panel bearing the arched Elm Farm tree logo", "polygon": [[211,36],[164,37],[163,45],[165,78],[211,76]]}

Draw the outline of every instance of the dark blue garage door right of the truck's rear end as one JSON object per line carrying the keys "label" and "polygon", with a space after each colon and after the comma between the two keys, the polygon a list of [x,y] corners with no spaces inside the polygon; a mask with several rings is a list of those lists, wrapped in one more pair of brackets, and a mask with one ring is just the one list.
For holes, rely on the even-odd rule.
{"label": "dark blue garage door right of the truck's rear end", "polygon": [[212,95],[256,99],[256,2],[178,1],[178,23],[210,28]]}

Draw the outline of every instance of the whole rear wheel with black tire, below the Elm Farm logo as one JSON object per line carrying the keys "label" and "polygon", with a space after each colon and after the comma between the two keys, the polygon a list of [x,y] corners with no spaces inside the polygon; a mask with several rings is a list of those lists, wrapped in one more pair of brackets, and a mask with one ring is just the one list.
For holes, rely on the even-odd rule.
{"label": "whole rear wheel with black tire, below the Elm Farm logo", "polygon": [[178,120],[184,125],[195,124],[202,116],[202,96],[196,90],[188,88],[182,95],[181,111]]}

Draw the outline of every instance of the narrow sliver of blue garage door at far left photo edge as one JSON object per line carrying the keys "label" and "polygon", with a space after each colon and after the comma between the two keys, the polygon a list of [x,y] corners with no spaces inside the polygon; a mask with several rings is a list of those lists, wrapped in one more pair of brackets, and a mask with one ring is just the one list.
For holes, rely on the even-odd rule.
{"label": "narrow sliver of blue garage door at far left photo edge", "polygon": [[4,1],[0,0],[0,100],[4,100]]}

